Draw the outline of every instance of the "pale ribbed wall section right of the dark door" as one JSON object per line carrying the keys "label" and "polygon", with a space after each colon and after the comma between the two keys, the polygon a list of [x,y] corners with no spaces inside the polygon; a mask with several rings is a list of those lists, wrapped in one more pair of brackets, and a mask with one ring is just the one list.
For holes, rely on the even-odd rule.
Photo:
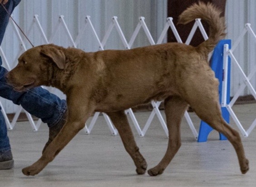
{"label": "pale ribbed wall section right of the dark door", "polygon": [[[232,43],[242,33],[245,24],[251,23],[251,28],[256,32],[256,0],[227,0],[226,4],[226,24],[227,38],[232,40]],[[241,67],[248,75],[251,69],[255,66],[256,59],[256,43],[252,40],[250,34],[245,35],[245,39],[240,43],[239,47],[234,51],[234,55]],[[256,77],[251,81],[256,88]],[[231,95],[235,93],[241,85],[241,74],[236,68],[231,67]],[[250,94],[245,89],[243,95]]]}

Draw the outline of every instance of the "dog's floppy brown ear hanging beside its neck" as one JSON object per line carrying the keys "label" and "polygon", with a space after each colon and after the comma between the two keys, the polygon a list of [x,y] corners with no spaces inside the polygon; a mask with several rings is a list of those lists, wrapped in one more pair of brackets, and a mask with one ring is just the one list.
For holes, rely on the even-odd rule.
{"label": "dog's floppy brown ear hanging beside its neck", "polygon": [[44,46],[40,53],[49,57],[57,65],[57,67],[59,67],[59,69],[64,69],[66,57],[63,51],[53,46]]}

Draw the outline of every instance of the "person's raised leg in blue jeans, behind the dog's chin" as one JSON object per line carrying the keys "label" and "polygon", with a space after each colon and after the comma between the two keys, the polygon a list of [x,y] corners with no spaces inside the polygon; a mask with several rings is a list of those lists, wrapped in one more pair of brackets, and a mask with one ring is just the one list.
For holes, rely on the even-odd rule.
{"label": "person's raised leg in blue jeans, behind the dog's chin", "polygon": [[40,118],[49,127],[58,124],[66,112],[66,101],[50,93],[42,87],[35,87],[25,92],[14,91],[5,79],[7,70],[4,67],[0,74],[0,97],[13,101],[16,105],[21,105],[30,114]]}

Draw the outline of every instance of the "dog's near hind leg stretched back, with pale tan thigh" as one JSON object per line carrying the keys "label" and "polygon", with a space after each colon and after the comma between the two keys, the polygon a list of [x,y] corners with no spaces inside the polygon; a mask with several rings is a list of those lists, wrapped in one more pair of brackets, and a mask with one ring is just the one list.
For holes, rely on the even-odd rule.
{"label": "dog's near hind leg stretched back, with pale tan thigh", "polygon": [[[202,75],[202,72],[200,75]],[[201,81],[200,81],[201,80]],[[200,84],[199,84],[199,83]],[[219,104],[218,81],[209,76],[197,77],[197,82],[190,82],[186,100],[201,120],[224,134],[236,150],[241,173],[249,170],[249,162],[245,157],[244,148],[239,133],[232,129],[222,118]]]}

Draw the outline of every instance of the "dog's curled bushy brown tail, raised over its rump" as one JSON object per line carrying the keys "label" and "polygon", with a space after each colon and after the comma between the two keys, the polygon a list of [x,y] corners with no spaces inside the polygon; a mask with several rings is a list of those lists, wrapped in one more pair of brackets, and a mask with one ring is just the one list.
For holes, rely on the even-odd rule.
{"label": "dog's curled bushy brown tail, raised over its rump", "polygon": [[226,36],[226,25],[221,11],[211,3],[194,4],[182,12],[179,16],[178,24],[187,24],[197,18],[201,18],[209,24],[209,39],[197,46],[198,52],[204,56],[215,48],[219,40]]}

